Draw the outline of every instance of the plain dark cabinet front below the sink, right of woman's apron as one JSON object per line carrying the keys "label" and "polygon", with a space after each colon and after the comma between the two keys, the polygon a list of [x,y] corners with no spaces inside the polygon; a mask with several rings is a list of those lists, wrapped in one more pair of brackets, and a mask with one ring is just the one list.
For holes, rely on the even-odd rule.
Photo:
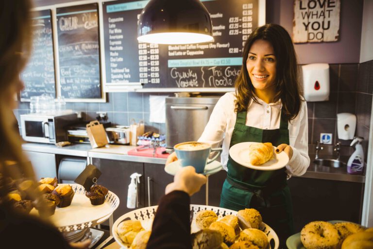
{"label": "plain dark cabinet front below the sink, right of woman's apron", "polygon": [[292,177],[295,231],[316,220],[361,221],[363,183]]}

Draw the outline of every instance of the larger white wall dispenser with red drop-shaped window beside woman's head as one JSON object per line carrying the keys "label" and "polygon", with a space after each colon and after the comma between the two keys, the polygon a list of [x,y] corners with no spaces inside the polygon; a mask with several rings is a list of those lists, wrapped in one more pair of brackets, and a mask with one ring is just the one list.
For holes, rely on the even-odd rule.
{"label": "larger white wall dispenser with red drop-shaped window beside woman's head", "polygon": [[329,100],[329,64],[304,65],[302,71],[305,100],[308,102]]}

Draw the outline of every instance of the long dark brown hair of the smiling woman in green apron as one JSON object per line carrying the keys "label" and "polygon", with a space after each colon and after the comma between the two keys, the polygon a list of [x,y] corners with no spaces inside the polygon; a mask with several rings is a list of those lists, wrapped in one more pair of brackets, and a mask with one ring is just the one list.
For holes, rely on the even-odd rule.
{"label": "long dark brown hair of the smiling woman in green apron", "polygon": [[246,68],[246,61],[254,41],[262,39],[271,43],[276,56],[276,94],[274,101],[281,99],[283,111],[288,120],[294,119],[301,108],[301,93],[298,83],[298,63],[293,42],[288,32],[277,24],[266,24],[258,27],[246,40],[243,48],[242,69],[235,83],[235,111],[247,110],[254,97],[254,86]]}

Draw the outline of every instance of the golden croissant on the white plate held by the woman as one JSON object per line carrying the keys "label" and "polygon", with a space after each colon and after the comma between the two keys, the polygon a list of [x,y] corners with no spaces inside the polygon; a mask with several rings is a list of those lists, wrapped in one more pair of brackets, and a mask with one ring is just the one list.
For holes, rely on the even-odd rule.
{"label": "golden croissant on the white plate held by the woman", "polygon": [[250,163],[260,165],[273,158],[273,146],[271,142],[253,143],[250,145]]}

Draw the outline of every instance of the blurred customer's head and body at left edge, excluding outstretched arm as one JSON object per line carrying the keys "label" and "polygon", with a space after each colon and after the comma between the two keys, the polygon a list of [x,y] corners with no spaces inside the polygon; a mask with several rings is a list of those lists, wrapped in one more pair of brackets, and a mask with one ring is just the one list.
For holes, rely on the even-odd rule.
{"label": "blurred customer's head and body at left edge, excluding outstretched arm", "polygon": [[0,241],[9,248],[88,248],[89,240],[68,244],[48,219],[15,210],[8,195],[28,180],[28,199],[38,197],[13,114],[14,97],[23,89],[19,73],[32,50],[31,7],[30,0],[0,1]]}

